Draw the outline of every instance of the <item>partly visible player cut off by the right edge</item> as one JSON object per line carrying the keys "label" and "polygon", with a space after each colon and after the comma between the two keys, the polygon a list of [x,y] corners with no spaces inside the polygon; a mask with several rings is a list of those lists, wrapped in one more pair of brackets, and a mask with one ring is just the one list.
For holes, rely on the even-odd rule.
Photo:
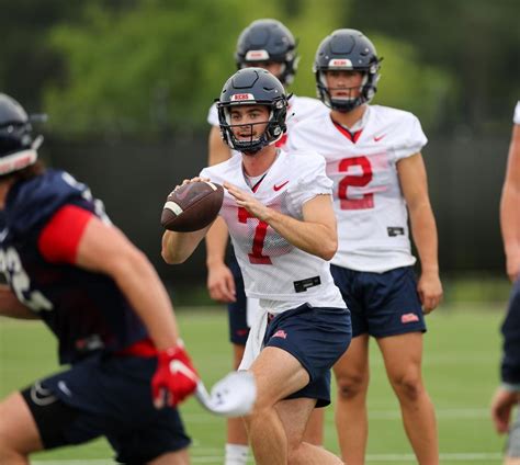
{"label": "partly visible player cut off by the right edge", "polygon": [[[506,250],[506,271],[513,282],[509,308],[502,325],[501,386],[491,402],[491,416],[499,433],[509,429],[511,411],[520,400],[520,101],[513,116],[508,167],[500,201],[500,226]],[[520,417],[509,431],[507,465],[520,464]]]}

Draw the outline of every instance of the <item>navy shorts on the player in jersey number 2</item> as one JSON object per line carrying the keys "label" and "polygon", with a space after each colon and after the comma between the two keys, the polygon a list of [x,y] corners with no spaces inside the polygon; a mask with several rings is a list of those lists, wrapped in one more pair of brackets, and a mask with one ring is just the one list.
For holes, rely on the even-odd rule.
{"label": "navy shorts on the player in jersey number 2", "polygon": [[371,273],[330,265],[330,272],[351,311],[353,338],[426,331],[411,266]]}

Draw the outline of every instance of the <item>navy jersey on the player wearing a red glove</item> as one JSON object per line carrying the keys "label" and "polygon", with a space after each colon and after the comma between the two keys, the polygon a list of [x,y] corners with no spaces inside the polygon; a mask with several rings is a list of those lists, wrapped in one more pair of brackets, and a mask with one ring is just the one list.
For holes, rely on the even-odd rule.
{"label": "navy jersey on the player wearing a red glove", "polygon": [[147,332],[111,277],[42,256],[39,235],[66,205],[108,220],[103,204],[67,172],[47,170],[15,183],[0,215],[0,271],[58,338],[60,363],[75,363],[100,350],[121,350]]}

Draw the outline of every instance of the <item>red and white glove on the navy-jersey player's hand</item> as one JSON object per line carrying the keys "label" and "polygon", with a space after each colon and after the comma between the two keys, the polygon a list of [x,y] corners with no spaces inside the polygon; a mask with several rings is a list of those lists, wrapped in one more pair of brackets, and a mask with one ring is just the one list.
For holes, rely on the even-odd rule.
{"label": "red and white glove on the navy-jersey player's hand", "polygon": [[196,389],[199,375],[182,343],[157,354],[157,371],[151,378],[156,408],[174,407]]}

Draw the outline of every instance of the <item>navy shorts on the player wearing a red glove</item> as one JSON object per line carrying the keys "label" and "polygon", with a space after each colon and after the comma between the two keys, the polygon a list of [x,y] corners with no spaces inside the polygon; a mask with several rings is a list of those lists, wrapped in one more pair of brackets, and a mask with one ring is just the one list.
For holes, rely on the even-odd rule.
{"label": "navy shorts on the player wearing a red glove", "polygon": [[152,405],[156,366],[156,358],[93,355],[23,390],[44,447],[105,436],[125,464],[188,447],[178,410]]}

